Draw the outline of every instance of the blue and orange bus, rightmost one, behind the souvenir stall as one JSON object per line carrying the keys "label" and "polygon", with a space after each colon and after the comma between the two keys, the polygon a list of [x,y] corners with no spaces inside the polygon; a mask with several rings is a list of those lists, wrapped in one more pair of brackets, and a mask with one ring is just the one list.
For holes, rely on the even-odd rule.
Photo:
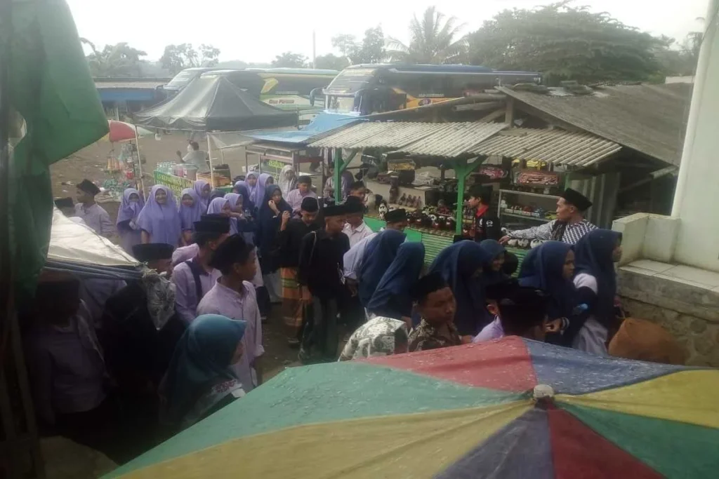
{"label": "blue and orange bus, rightmost one, behind the souvenir stall", "polygon": [[429,105],[482,93],[500,85],[541,83],[535,72],[498,71],[474,65],[352,65],[320,93],[326,109],[367,115]]}

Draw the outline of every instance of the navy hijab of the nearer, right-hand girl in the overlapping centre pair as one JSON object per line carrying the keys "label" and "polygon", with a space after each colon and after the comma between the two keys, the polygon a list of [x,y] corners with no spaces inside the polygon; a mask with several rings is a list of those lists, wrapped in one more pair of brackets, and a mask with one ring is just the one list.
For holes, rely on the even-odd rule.
{"label": "navy hijab of the nearer, right-hand girl in the overlapping centre pair", "polygon": [[422,243],[403,243],[397,257],[380,279],[377,291],[372,294],[367,311],[377,316],[409,321],[412,315],[412,297],[409,289],[419,279],[424,263]]}

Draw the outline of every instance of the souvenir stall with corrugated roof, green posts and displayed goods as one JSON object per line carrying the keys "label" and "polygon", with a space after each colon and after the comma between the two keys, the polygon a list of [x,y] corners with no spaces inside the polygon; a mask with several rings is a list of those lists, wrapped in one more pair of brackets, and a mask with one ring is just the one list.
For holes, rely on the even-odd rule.
{"label": "souvenir stall with corrugated roof, green posts and displayed goods", "polygon": [[[384,208],[408,210],[408,238],[427,247],[427,261],[467,234],[473,215],[464,211],[472,185],[491,188],[503,225],[528,228],[549,221],[557,193],[572,167],[584,167],[618,152],[620,146],[587,133],[510,129],[498,123],[379,122],[358,124],[314,141],[332,149],[335,175],[349,161],[342,150],[382,158],[385,169],[367,185],[386,198],[368,213],[381,228]],[[386,196],[385,196],[386,192]],[[529,244],[514,244],[520,258]]]}

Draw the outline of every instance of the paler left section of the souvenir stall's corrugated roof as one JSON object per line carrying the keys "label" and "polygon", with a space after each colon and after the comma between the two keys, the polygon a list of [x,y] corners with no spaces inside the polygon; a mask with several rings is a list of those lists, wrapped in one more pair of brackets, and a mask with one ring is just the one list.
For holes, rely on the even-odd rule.
{"label": "paler left section of the souvenir stall's corrugated roof", "polygon": [[456,157],[505,124],[372,122],[349,126],[314,141],[315,148],[388,148],[411,154]]}

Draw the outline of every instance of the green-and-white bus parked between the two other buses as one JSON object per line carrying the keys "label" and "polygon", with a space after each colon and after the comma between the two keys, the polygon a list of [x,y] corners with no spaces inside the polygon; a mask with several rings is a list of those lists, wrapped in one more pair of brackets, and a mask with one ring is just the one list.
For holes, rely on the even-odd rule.
{"label": "green-and-white bus parked between the two other buses", "polygon": [[298,111],[300,125],[306,125],[324,110],[324,97],[315,98],[310,104],[310,92],[321,91],[337,73],[336,70],[310,68],[245,68],[214,70],[201,76],[224,76],[237,88],[252,93],[268,105]]}

